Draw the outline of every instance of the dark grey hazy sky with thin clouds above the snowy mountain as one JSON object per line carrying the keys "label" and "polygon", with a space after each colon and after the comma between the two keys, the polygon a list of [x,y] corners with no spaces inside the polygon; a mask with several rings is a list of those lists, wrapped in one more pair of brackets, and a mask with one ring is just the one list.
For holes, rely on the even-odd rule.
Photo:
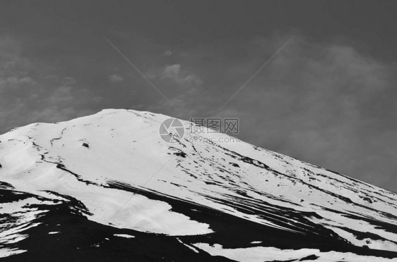
{"label": "dark grey hazy sky with thin clouds above the snowy mountain", "polygon": [[396,1],[1,1],[0,133],[102,108],[239,117],[240,139],[397,192],[396,13]]}

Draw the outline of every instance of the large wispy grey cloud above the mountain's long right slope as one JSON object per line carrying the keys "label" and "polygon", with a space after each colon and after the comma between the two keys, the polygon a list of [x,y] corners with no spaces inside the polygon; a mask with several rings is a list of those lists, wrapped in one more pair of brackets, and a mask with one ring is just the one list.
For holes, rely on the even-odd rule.
{"label": "large wispy grey cloud above the mountain's long right slope", "polygon": [[220,115],[239,115],[250,142],[395,187],[394,75],[351,46],[300,39]]}

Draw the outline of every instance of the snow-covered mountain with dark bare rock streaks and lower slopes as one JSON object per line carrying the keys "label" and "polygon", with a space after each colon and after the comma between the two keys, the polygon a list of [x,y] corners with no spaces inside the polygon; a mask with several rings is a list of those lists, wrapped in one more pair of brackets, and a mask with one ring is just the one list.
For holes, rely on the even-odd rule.
{"label": "snow-covered mountain with dark bare rock streaks and lower slopes", "polygon": [[397,261],[397,194],[222,133],[169,143],[168,118],[109,109],[1,135],[0,257]]}

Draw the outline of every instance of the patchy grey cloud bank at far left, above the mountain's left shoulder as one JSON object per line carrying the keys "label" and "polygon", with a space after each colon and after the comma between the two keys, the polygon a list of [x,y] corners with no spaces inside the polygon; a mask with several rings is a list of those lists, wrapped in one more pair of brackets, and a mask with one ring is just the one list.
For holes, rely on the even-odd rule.
{"label": "patchy grey cloud bank at far left, above the mountain's left shoulder", "polygon": [[42,61],[25,56],[20,40],[0,37],[1,132],[33,122],[56,122],[93,113],[84,104],[98,99],[67,75],[48,75]]}

